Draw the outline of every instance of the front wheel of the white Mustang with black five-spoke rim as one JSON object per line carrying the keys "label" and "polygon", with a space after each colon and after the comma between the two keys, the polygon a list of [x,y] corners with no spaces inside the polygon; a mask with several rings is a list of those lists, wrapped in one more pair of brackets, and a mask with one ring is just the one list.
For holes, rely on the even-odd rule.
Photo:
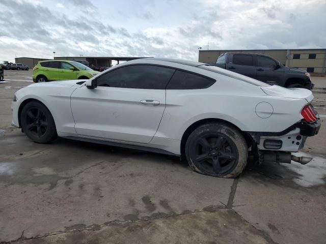
{"label": "front wheel of the white Mustang with black five-spoke rim", "polygon": [[55,120],[44,104],[32,101],[21,110],[21,128],[31,140],[49,143],[58,137]]}

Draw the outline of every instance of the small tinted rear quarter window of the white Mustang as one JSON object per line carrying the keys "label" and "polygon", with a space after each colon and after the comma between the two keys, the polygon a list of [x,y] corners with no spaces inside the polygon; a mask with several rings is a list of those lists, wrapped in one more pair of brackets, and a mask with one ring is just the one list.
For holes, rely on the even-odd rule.
{"label": "small tinted rear quarter window of the white Mustang", "polygon": [[215,80],[177,70],[167,89],[203,89],[211,86]]}

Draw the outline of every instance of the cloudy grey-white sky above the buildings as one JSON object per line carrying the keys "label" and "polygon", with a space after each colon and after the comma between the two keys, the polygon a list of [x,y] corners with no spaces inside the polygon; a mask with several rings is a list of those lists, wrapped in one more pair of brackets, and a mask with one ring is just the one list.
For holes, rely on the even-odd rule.
{"label": "cloudy grey-white sky above the buildings", "polygon": [[0,63],[326,48],[326,0],[0,0]]}

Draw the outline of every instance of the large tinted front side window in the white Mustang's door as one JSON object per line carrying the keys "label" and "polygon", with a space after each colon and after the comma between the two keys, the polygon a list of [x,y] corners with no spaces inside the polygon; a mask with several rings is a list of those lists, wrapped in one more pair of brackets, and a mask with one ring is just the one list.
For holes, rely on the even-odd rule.
{"label": "large tinted front side window in the white Mustang's door", "polygon": [[138,89],[165,89],[174,69],[152,65],[132,65],[98,77],[97,86]]}

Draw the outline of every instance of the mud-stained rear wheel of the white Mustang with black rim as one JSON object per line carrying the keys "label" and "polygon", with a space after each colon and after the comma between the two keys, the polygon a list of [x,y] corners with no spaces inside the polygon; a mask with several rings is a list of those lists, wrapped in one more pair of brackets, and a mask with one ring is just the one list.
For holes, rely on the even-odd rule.
{"label": "mud-stained rear wheel of the white Mustang with black rim", "polygon": [[189,166],[198,173],[233,178],[247,165],[248,145],[236,128],[209,123],[189,135],[185,155]]}

